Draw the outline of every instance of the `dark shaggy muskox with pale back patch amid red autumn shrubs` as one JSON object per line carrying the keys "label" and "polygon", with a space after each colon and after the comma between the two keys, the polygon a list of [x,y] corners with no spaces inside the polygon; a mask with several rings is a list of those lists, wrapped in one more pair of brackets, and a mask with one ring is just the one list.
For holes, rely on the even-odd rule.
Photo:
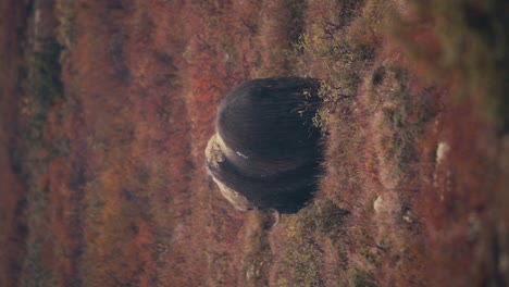
{"label": "dark shaggy muskox with pale back patch amid red autumn shrubs", "polygon": [[313,78],[262,78],[221,101],[207,170],[236,209],[295,213],[312,199],[322,172],[319,89]]}

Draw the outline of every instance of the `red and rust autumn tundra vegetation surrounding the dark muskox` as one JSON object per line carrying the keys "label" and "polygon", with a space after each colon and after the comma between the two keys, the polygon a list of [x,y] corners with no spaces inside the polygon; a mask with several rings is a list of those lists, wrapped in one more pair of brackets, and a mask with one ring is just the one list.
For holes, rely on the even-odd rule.
{"label": "red and rust autumn tundra vegetation surrounding the dark muskox", "polygon": [[[424,2],[0,0],[0,286],[507,284],[507,4]],[[288,75],[326,174],[271,227],[203,151]]]}

